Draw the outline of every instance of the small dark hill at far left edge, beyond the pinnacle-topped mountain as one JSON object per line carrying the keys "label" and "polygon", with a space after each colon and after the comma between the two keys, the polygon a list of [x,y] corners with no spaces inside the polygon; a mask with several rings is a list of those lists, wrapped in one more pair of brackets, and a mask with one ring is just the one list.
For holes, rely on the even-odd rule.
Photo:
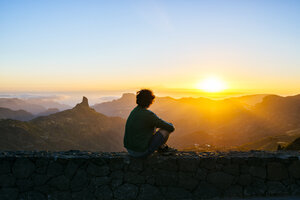
{"label": "small dark hill at far left edge, beyond the pinnacle-topped mountain", "polygon": [[16,119],[21,121],[27,121],[34,118],[34,115],[25,110],[11,110],[9,108],[0,107],[0,119]]}

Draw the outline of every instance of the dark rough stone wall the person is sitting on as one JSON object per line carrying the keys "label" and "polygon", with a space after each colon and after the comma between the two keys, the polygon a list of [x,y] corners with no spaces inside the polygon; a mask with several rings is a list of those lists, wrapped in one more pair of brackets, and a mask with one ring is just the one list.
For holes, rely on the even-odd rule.
{"label": "dark rough stone wall the person is sitting on", "polygon": [[300,194],[299,153],[0,152],[0,199],[210,199]]}

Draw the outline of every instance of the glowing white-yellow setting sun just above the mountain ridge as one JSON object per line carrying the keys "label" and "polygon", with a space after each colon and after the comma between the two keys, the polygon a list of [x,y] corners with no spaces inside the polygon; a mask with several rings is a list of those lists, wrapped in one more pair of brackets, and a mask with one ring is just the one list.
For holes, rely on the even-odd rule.
{"label": "glowing white-yellow setting sun just above the mountain ridge", "polygon": [[205,92],[221,92],[227,87],[221,79],[217,77],[208,77],[197,83],[196,88]]}

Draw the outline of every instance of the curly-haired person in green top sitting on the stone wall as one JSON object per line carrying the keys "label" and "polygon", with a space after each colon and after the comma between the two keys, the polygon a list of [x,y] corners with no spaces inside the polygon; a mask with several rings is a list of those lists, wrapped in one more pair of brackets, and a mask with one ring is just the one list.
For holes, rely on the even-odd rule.
{"label": "curly-haired person in green top sitting on the stone wall", "polygon": [[[174,126],[148,110],[155,96],[151,90],[137,92],[137,106],[131,111],[125,127],[124,147],[133,157],[147,157],[154,151],[174,151],[165,143]],[[157,130],[157,128],[159,128]],[[156,131],[157,130],[157,131]]]}

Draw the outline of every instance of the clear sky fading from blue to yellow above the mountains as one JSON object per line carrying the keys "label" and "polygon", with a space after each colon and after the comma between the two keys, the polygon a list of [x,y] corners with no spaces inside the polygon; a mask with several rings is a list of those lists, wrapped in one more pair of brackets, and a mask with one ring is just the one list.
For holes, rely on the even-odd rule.
{"label": "clear sky fading from blue to yellow above the mountains", "polygon": [[[300,93],[300,1],[0,0],[0,92]],[[221,93],[222,93],[221,92]]]}

